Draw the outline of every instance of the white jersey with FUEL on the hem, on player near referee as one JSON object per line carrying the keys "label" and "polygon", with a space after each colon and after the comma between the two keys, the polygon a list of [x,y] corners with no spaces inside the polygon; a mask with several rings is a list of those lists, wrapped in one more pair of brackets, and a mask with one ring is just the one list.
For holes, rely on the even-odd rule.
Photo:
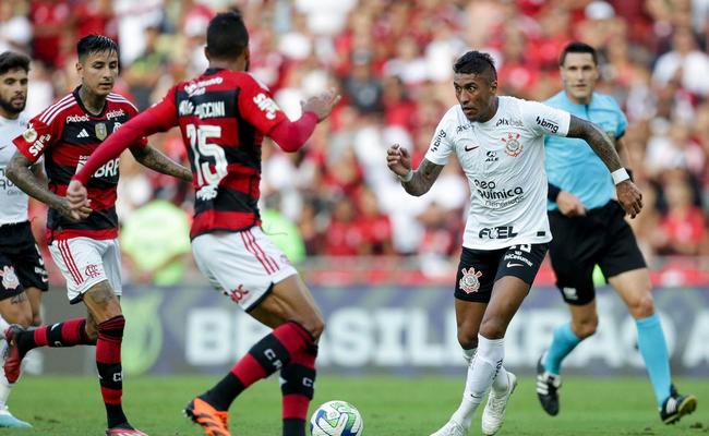
{"label": "white jersey with FUEL on the hem, on player near referee", "polygon": [[546,218],[544,135],[566,136],[570,114],[537,101],[498,97],[488,122],[460,105],[443,117],[425,158],[445,165],[455,153],[470,185],[462,245],[497,250],[552,240]]}

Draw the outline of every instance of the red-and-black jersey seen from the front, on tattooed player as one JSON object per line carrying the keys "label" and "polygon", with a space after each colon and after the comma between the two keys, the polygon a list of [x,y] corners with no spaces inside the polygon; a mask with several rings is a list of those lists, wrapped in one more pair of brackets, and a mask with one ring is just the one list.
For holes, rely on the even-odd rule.
{"label": "red-and-black jersey seen from the front, on tattooed player", "polygon": [[[106,97],[101,113],[92,114],[79,97],[79,88],[29,120],[27,130],[13,142],[17,149],[35,162],[45,156],[45,171],[49,190],[59,196],[67,194],[72,175],[88,160],[92,153],[121,124],[137,113],[135,107],[120,94]],[[145,146],[142,138],[135,145]],[[89,179],[86,189],[92,214],[73,222],[57,210],[49,209],[47,231],[50,241],[86,237],[97,240],[118,237],[116,158],[100,167]]]}

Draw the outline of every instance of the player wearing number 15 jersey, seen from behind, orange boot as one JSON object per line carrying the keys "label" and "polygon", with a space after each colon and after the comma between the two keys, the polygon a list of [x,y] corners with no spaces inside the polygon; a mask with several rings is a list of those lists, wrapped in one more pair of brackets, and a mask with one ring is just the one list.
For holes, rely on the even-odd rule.
{"label": "player wearing number 15 jersey, seen from behind, orange boot", "polygon": [[283,434],[304,436],[324,323],[296,269],[261,230],[261,144],[267,135],[286,152],[299,149],[339,96],[331,90],[313,97],[303,116],[289,121],[268,89],[245,72],[248,45],[239,13],[216,15],[207,28],[209,68],[176,85],[107,140],[74,175],[68,198],[75,210],[86,207],[88,174],[136,138],[180,126],[196,192],[195,262],[216,288],[274,329],[224,379],[190,401],[185,412],[207,435],[229,435],[227,411],[235,398],[280,371]]}

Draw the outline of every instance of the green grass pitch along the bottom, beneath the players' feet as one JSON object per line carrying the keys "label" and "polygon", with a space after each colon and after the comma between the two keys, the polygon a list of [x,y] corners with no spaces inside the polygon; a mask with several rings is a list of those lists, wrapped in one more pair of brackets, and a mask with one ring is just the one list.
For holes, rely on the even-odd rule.
{"label": "green grass pitch along the bottom, beneath the players' feet", "polygon": [[[151,436],[200,435],[181,414],[192,396],[216,377],[131,377],[125,382],[125,411]],[[519,377],[507,421],[500,435],[709,435],[709,380],[676,379],[683,391],[699,397],[698,410],[665,426],[656,412],[644,378],[567,377],[562,412],[546,416],[538,404],[531,376]],[[364,416],[366,436],[425,436],[445,423],[457,407],[462,380],[446,377],[394,378],[322,376],[313,404],[341,399]],[[280,400],[275,378],[259,383],[231,408],[231,429],[239,436],[280,436]],[[98,382],[87,377],[27,376],[10,399],[13,413],[33,429],[0,429],[2,435],[103,435],[104,407]],[[312,409],[311,409],[312,411]],[[480,434],[479,410],[470,435]]]}

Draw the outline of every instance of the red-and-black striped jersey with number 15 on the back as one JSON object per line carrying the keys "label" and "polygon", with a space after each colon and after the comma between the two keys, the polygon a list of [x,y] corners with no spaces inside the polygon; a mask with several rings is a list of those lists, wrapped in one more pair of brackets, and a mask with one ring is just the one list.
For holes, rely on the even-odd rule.
{"label": "red-and-black striped jersey with number 15 on the back", "polygon": [[[166,110],[161,110],[165,107]],[[261,223],[261,143],[286,116],[248,73],[209,69],[178,84],[158,104],[180,125],[195,186],[190,237]]]}

